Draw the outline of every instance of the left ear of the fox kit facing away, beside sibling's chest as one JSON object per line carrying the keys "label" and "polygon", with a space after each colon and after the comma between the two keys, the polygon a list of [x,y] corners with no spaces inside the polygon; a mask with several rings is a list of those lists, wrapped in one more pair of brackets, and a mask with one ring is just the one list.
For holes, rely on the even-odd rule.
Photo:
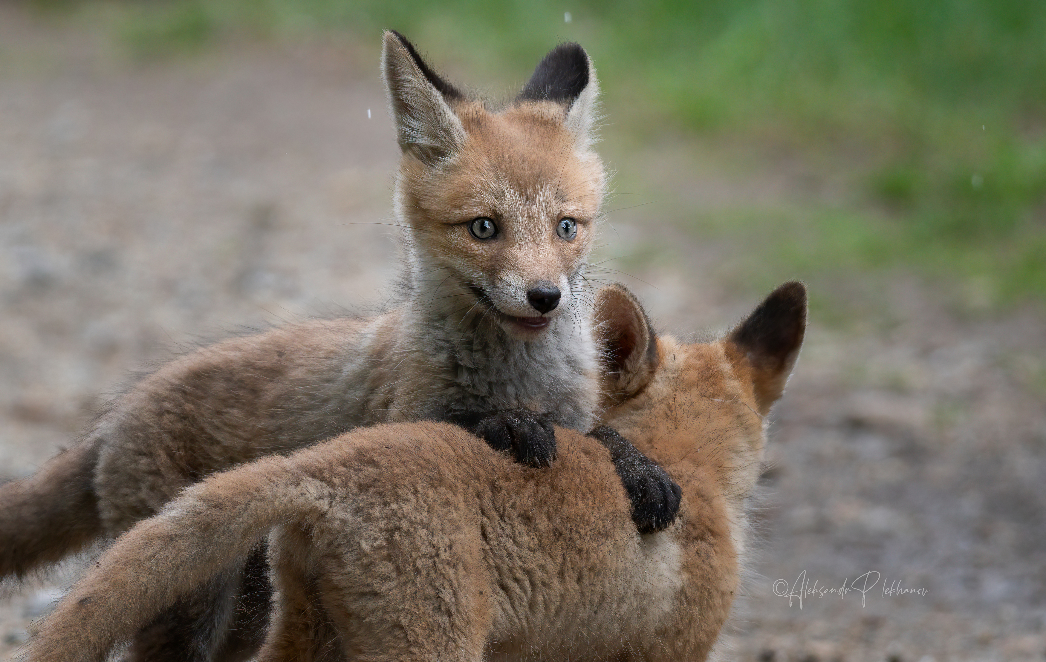
{"label": "left ear of the fox kit facing away, beside sibling's chest", "polygon": [[604,404],[613,406],[635,395],[654,376],[660,361],[657,335],[646,311],[622,284],[607,286],[596,294],[593,318],[604,352]]}

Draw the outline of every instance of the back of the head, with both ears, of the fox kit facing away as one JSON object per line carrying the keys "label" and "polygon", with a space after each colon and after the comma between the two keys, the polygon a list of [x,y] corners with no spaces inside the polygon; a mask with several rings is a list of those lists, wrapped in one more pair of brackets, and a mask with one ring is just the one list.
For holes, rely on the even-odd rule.
{"label": "back of the head, with both ears, of the fox kit facing away", "polygon": [[[636,298],[612,284],[595,297],[604,353],[604,420],[637,448],[657,448],[669,466],[729,452],[724,466],[744,480],[757,472],[764,420],[781,396],[806,332],[806,288],[786,282],[719,342],[658,338]],[[690,454],[690,455],[688,455]],[[691,456],[692,455],[692,456]],[[743,472],[743,473],[744,473]],[[740,479],[738,479],[740,480]],[[738,492],[740,490],[740,492]]]}

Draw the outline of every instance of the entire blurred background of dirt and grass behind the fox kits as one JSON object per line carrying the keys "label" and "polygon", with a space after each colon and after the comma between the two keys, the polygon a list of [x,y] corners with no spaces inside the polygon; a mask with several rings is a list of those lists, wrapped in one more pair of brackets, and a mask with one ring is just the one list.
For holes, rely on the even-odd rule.
{"label": "entire blurred background of dirt and grass behind the fox kits", "polygon": [[[0,473],[173,351],[381,303],[384,27],[496,98],[588,49],[615,172],[597,275],[664,330],[809,283],[724,657],[1046,656],[1041,2],[0,4]],[[774,592],[867,572],[863,603]],[[0,601],[0,657],[60,586]]]}

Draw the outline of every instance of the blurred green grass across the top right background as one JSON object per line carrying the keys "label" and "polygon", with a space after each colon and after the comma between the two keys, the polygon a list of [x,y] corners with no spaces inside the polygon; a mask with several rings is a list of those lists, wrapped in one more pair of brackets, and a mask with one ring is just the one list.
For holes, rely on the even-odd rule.
{"label": "blurred green grass across the top right background", "polygon": [[120,43],[142,58],[237,35],[348,30],[377,47],[381,28],[396,27],[441,63],[522,81],[537,54],[576,40],[599,66],[609,109],[642,99],[642,116],[623,121],[639,139],[665,127],[742,141],[788,136],[794,151],[851,173],[832,203],[680,212],[695,232],[759,237],[749,243],[753,269],[819,278],[900,268],[979,283],[990,305],[1046,299],[1046,2],[108,6]]}

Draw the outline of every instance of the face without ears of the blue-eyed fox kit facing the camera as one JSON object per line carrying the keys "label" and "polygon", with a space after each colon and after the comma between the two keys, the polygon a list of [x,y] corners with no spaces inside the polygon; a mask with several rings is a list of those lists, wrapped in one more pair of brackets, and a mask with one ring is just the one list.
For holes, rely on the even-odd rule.
{"label": "face without ears of the blue-eyed fox kit facing the camera", "polygon": [[575,147],[558,104],[457,113],[468,138],[455,157],[403,168],[416,251],[446,279],[444,295],[460,293],[458,306],[482,307],[513,336],[540,335],[581,296],[602,167]]}

